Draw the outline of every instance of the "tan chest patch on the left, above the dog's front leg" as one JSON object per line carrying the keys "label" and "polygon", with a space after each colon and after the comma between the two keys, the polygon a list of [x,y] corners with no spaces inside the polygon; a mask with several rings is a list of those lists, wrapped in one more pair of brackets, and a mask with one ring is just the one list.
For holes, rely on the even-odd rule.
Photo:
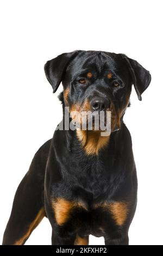
{"label": "tan chest patch on the left, above the dog's front leg", "polygon": [[52,201],[55,220],[59,225],[65,224],[71,216],[71,211],[77,207],[87,210],[86,205],[82,202],[74,202],[64,198],[57,198],[57,200]]}

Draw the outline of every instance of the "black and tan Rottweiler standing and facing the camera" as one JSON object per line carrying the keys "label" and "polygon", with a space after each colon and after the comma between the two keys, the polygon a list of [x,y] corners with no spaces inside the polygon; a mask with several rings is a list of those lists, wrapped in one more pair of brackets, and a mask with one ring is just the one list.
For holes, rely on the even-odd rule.
{"label": "black and tan Rottweiler standing and facing the camera", "polygon": [[103,236],[105,245],[128,245],[137,176],[123,116],[132,85],[141,100],[151,75],[136,60],[103,51],[63,53],[45,64],[45,74],[54,93],[62,82],[59,99],[74,126],[82,111],[111,112],[110,133],[55,130],[17,188],[3,245],[24,245],[45,216],[52,245],[89,245],[90,234]]}

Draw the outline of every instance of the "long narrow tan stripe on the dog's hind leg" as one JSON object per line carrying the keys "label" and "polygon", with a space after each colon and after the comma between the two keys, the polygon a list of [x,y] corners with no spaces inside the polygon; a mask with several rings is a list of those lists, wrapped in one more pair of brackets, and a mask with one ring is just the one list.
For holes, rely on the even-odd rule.
{"label": "long narrow tan stripe on the dog's hind leg", "polygon": [[37,216],[35,217],[34,221],[30,223],[27,233],[21,237],[21,239],[17,240],[14,245],[23,245],[23,243],[28,239],[32,231],[39,225],[39,223],[42,221],[42,218],[45,217],[45,209],[41,208]]}

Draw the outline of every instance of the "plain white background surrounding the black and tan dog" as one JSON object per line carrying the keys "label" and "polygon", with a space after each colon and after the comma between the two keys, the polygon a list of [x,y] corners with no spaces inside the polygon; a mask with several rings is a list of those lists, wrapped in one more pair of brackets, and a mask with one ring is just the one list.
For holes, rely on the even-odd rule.
{"label": "plain white background surrounding the black and tan dog", "polygon": [[[103,50],[125,53],[152,74],[142,102],[133,89],[124,119],[139,180],[129,239],[130,245],[163,245],[161,2],[1,1],[1,240],[16,188],[62,116],[57,99],[62,86],[52,93],[43,65],[63,52]],[[45,218],[26,245],[49,244],[51,226]],[[90,244],[104,240],[91,236]]]}

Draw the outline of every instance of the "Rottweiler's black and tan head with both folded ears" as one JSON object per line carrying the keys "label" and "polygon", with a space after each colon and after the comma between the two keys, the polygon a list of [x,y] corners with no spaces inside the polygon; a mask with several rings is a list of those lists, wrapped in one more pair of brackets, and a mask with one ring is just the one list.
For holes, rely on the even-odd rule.
{"label": "Rottweiler's black and tan head with both folded ears", "polygon": [[[70,112],[111,111],[111,131],[120,129],[132,84],[141,100],[151,82],[149,71],[136,60],[101,51],[63,53],[46,63],[45,73],[54,93],[62,82],[64,102]],[[72,119],[76,118],[72,115]]]}

